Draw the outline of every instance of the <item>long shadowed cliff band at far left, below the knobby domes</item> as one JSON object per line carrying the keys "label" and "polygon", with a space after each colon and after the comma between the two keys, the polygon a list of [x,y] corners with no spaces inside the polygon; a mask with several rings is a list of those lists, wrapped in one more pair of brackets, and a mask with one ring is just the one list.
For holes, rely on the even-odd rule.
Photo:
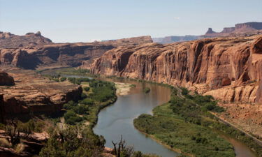
{"label": "long shadowed cliff band at far left, below the knobby domes", "polygon": [[[32,36],[31,33],[27,36]],[[36,36],[36,34],[34,34]],[[90,63],[104,52],[120,45],[152,43],[150,36],[94,43],[36,45],[0,50],[0,64],[24,69],[60,68]],[[0,47],[1,48],[1,47]]]}

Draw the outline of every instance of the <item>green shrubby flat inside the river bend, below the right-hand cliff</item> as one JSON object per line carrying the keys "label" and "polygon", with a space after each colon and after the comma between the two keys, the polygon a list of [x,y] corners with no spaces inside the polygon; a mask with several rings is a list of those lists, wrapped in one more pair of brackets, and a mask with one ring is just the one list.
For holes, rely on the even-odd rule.
{"label": "green shrubby flat inside the river bend, below the right-hand cliff", "polygon": [[185,155],[235,156],[233,147],[219,132],[232,135],[261,154],[250,137],[222,124],[210,113],[224,111],[212,96],[189,95],[187,89],[181,90],[182,96],[177,93],[173,89],[170,101],[154,108],[153,116],[142,114],[135,119],[135,127]]}

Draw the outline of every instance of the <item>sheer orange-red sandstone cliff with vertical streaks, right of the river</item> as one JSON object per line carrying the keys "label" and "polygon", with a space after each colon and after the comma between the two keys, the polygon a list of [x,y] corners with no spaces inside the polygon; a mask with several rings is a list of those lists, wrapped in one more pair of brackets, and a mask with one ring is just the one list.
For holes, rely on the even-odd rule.
{"label": "sheer orange-red sandstone cliff with vertical streaks, right of the river", "polygon": [[189,87],[229,102],[261,101],[261,36],[117,47],[96,59],[94,74]]}

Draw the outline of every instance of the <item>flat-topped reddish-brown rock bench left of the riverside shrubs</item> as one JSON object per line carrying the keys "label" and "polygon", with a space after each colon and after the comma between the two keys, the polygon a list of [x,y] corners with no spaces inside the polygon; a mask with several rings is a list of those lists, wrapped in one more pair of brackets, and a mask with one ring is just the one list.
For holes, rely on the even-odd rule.
{"label": "flat-topped reddish-brown rock bench left of the riverside shrubs", "polygon": [[[32,112],[58,112],[64,103],[78,100],[82,94],[78,85],[54,82],[31,70],[12,68],[5,71],[13,77],[15,85],[0,87],[1,120]],[[0,81],[3,80],[2,74]]]}

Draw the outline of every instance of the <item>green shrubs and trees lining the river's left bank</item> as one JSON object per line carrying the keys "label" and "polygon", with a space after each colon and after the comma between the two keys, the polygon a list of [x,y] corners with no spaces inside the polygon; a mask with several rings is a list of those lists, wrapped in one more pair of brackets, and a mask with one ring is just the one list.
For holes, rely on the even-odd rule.
{"label": "green shrubs and trees lining the river's left bank", "polygon": [[[40,156],[104,156],[105,139],[95,135],[95,126],[99,111],[115,102],[115,84],[94,79],[67,78],[66,80],[82,86],[82,99],[64,104],[66,128],[50,130],[50,139],[41,150]],[[134,151],[124,144],[112,154],[119,157],[157,157]],[[112,156],[112,155],[111,155]]]}

